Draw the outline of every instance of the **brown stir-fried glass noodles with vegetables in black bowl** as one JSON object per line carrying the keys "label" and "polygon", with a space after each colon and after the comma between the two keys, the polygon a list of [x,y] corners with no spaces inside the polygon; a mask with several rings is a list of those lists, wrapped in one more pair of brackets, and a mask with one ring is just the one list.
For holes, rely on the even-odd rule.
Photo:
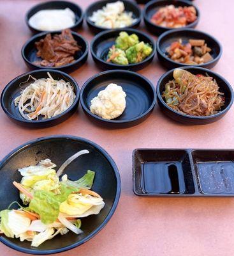
{"label": "brown stir-fried glass noodles with vegetables in black bowl", "polygon": [[170,108],[191,116],[210,116],[221,111],[224,93],[219,92],[215,79],[181,68],[174,70],[173,77],[162,95]]}

